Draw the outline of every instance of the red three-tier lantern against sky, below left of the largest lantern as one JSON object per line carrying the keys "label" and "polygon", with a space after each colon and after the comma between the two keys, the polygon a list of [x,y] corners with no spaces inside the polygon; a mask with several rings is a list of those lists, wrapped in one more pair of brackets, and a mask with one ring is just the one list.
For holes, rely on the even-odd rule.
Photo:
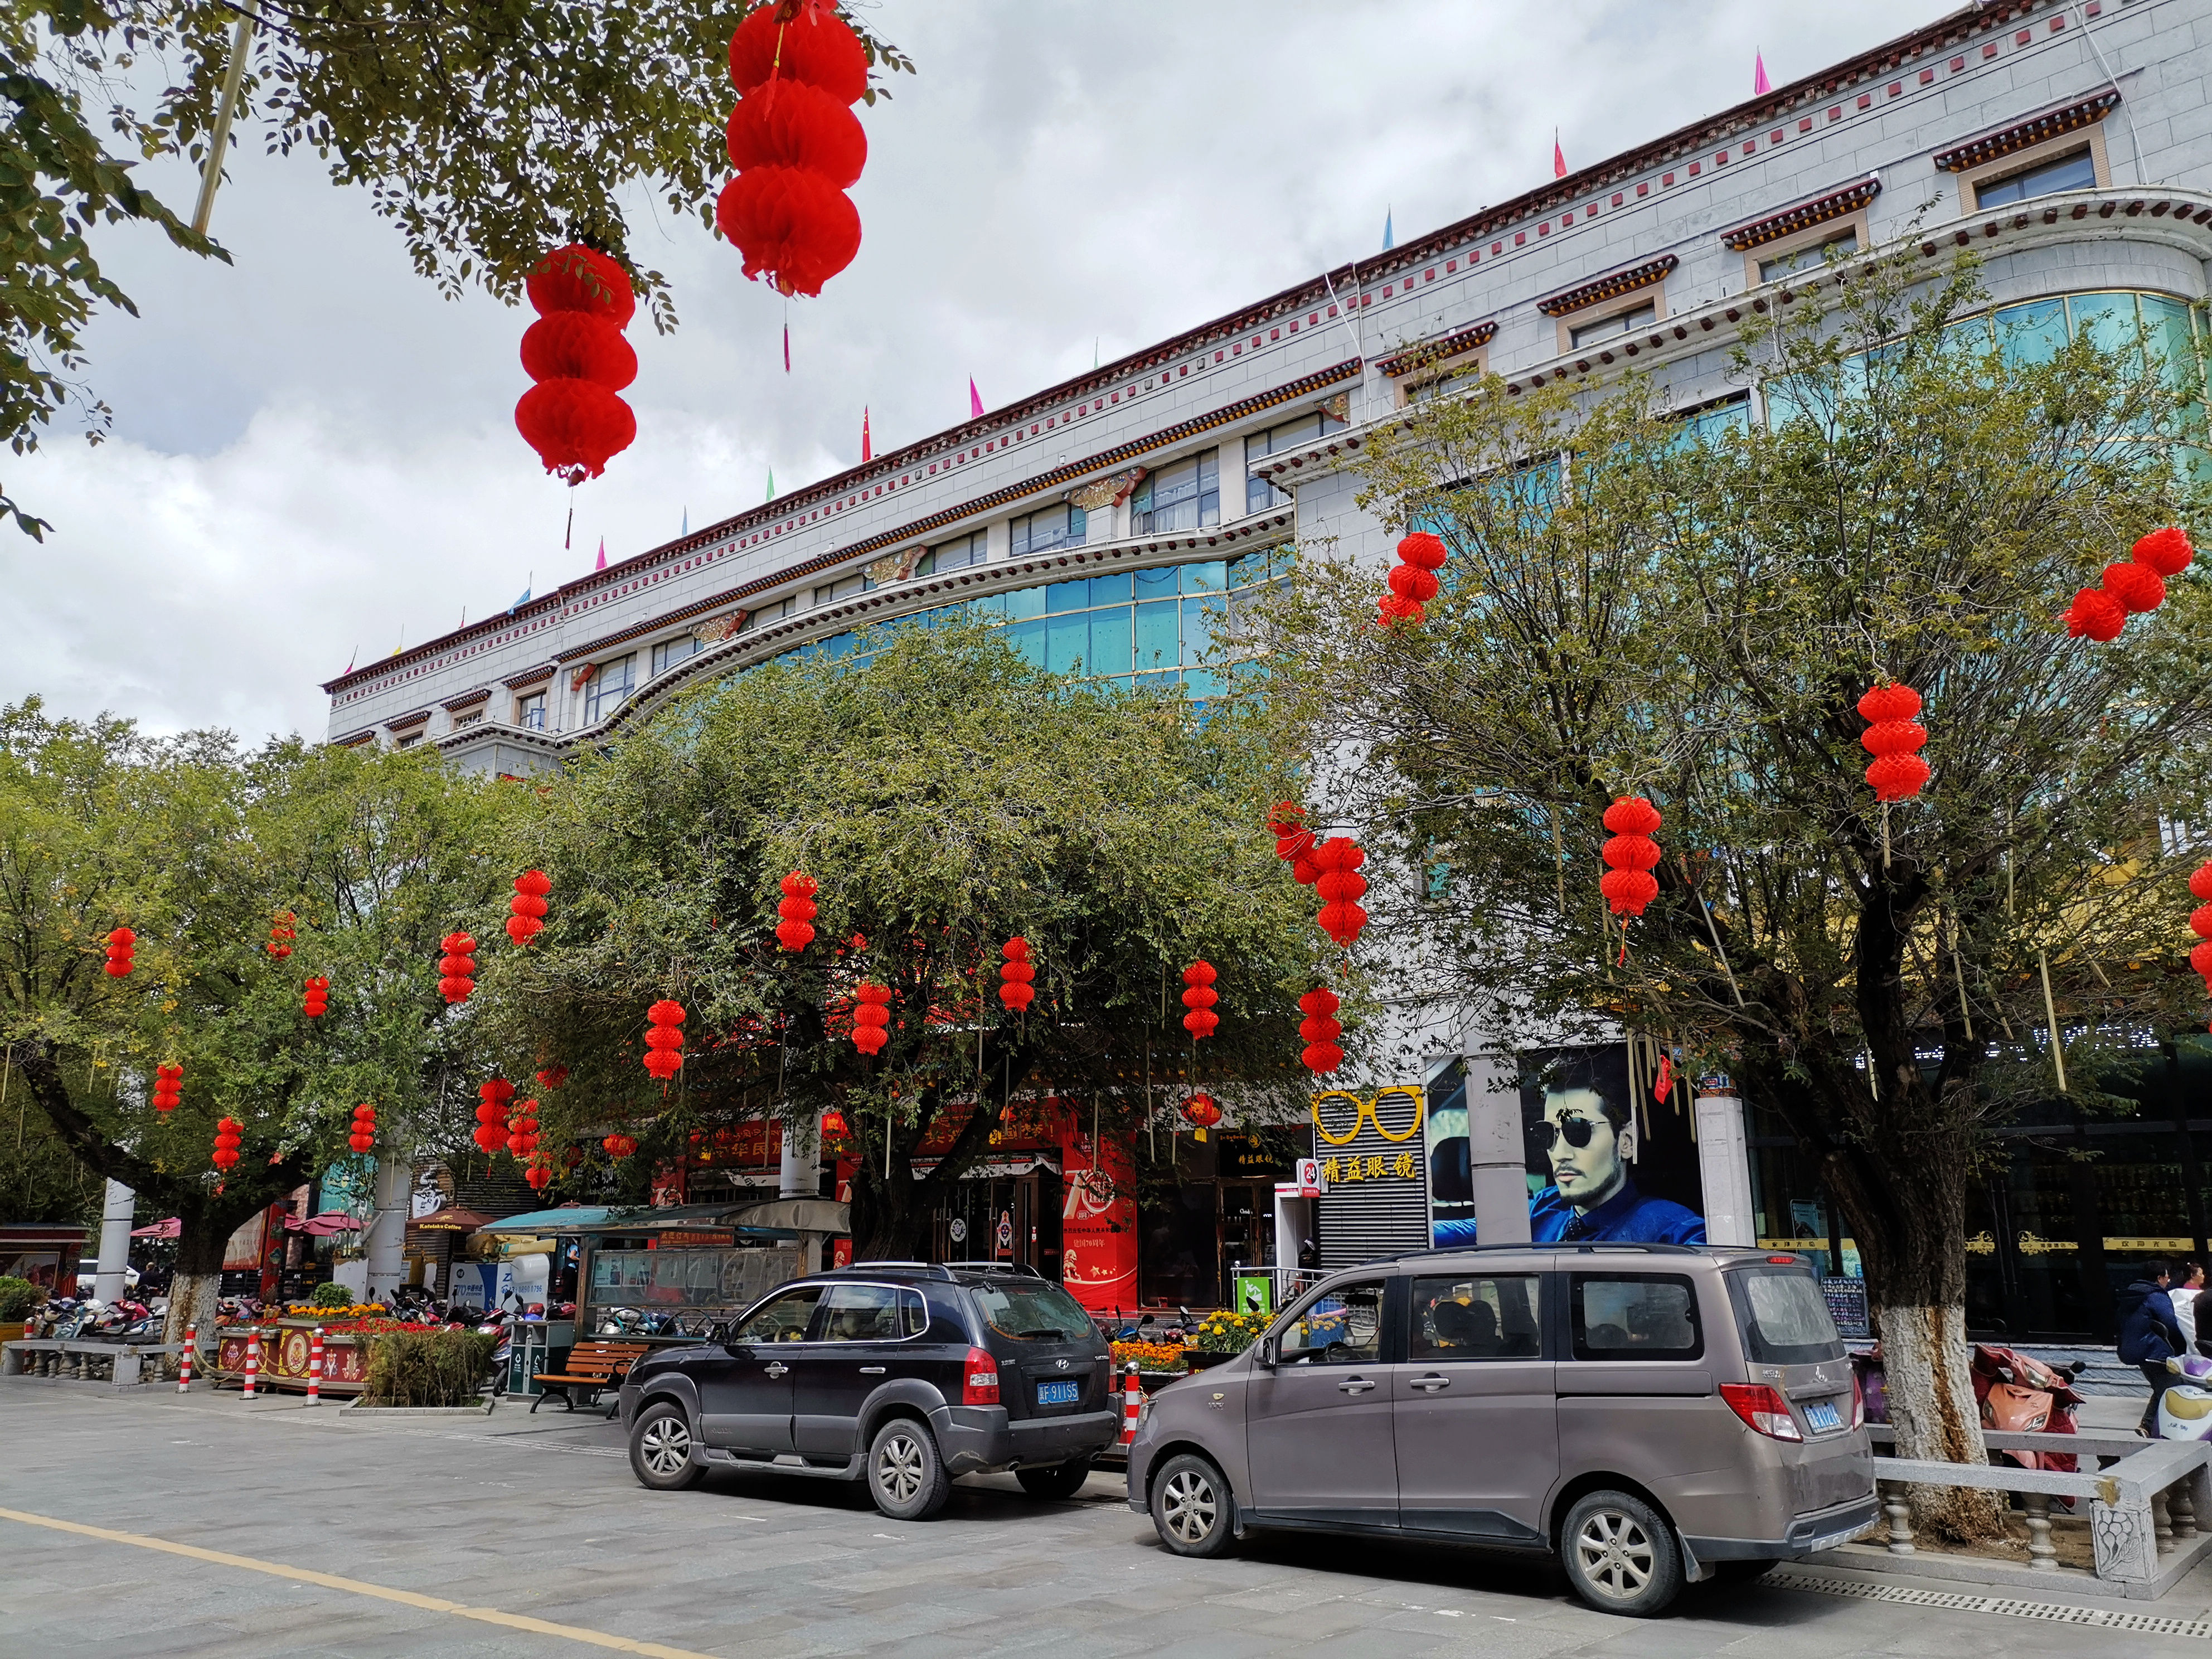
{"label": "red three-tier lantern against sky, below left of the largest lantern", "polygon": [[615,396],[637,378],[622,338],[637,294],[622,265],[580,241],[531,265],[524,288],[538,321],[522,336],[522,367],[538,385],[515,405],[515,429],[575,489],[637,440],[637,416]]}

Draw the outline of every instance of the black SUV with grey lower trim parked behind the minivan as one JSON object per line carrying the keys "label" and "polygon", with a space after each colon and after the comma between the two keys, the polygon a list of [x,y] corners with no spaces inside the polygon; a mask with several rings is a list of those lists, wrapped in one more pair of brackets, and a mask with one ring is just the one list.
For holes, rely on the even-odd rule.
{"label": "black SUV with grey lower trim parked behind the minivan", "polygon": [[867,1480],[927,1520],[953,1475],[1013,1469],[1073,1498],[1119,1438],[1113,1356],[1082,1305],[1033,1272],[867,1261],[810,1274],[699,1347],[622,1385],[630,1469],[657,1491],[708,1469]]}

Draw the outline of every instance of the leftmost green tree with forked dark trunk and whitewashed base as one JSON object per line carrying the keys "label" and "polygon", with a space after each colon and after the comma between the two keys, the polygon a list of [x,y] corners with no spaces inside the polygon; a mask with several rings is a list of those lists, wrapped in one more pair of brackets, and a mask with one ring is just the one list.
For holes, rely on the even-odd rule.
{"label": "leftmost green tree with forked dark trunk and whitewashed base", "polygon": [[[230,1232],[345,1155],[358,1102],[385,1146],[458,1139],[476,1037],[436,993],[436,942],[502,885],[518,805],[436,757],[0,710],[0,1055],[58,1146],[177,1214],[170,1329],[206,1310]],[[122,978],[115,927],[137,933]],[[307,975],[332,982],[319,1020]],[[164,1062],[184,1066],[166,1115]],[[243,1146],[217,1177],[221,1117]]]}

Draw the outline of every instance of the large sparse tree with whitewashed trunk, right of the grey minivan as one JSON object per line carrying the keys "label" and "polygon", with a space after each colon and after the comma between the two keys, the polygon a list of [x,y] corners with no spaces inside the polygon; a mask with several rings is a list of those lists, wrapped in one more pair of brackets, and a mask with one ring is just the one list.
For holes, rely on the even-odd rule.
{"label": "large sparse tree with whitewashed trunk, right of the grey minivan", "polygon": [[[1986,1133],[2059,1057],[2110,1106],[2101,1062],[2201,1018],[2174,825],[2203,823],[2205,586],[2110,646],[2062,622],[2201,507],[2177,469],[2201,369],[2185,319],[1993,330],[1973,270],[1918,248],[1807,281],[1736,369],[1767,425],[1672,420],[1641,383],[1422,405],[1365,500],[1444,538],[1449,591],[1383,630],[1371,571],[1318,568],[1267,626],[1279,741],[1360,754],[1340,807],[1449,876],[1418,905],[1380,885],[1378,920],[1442,945],[1478,1029],[1666,1035],[1783,1117],[1858,1241],[1900,1451],[1980,1462]],[[1927,695],[1933,783],[1885,812],[1856,701],[1889,677]],[[1621,794],[1666,814],[1626,931],[1599,898]]]}

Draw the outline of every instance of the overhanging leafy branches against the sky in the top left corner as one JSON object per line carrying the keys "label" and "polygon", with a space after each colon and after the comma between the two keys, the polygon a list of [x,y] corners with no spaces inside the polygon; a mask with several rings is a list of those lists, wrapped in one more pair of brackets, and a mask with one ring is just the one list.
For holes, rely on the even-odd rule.
{"label": "overhanging leafy branches against the sky in the top left corner", "polygon": [[[816,0],[772,0],[801,13]],[[586,239],[622,259],[675,325],[668,283],[628,259],[637,192],[712,232],[728,177],[739,0],[500,0],[425,7],[228,0],[13,0],[0,7],[0,438],[24,453],[75,407],[95,442],[108,409],[82,383],[82,330],[100,305],[135,310],[100,270],[100,223],[157,226],[177,248],[228,259],[108,155],[95,122],[144,159],[206,166],[243,15],[241,133],[272,153],[312,150],[332,184],[363,186],[416,270],[458,296],[513,301],[546,248]],[[843,9],[841,9],[843,13]],[[874,73],[911,71],[858,15]],[[872,86],[874,102],[883,93]],[[243,142],[232,135],[230,142]],[[0,513],[46,524],[0,495]]]}

